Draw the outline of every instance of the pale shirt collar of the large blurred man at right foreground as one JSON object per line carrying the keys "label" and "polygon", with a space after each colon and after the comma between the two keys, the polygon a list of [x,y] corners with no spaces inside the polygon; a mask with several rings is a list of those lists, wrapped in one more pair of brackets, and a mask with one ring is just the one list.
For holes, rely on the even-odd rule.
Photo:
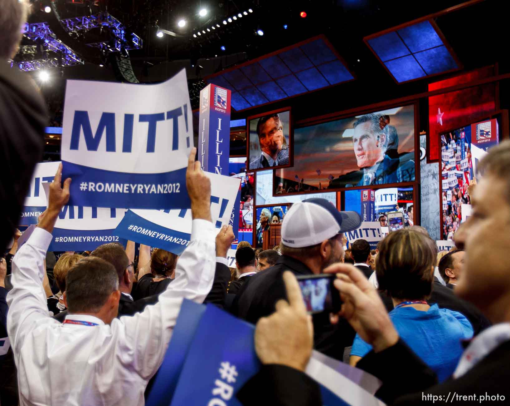
{"label": "pale shirt collar of the large blurred man at right foreground", "polygon": [[510,340],[510,323],[499,323],[483,330],[462,354],[453,377],[458,378],[473,368],[501,343]]}

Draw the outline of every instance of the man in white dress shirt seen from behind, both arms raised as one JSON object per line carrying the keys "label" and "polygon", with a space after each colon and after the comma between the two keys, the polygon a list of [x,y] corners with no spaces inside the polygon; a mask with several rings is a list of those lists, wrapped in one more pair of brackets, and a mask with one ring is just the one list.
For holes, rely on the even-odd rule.
{"label": "man in white dress shirt seen from behind, both arms raised", "polygon": [[163,361],[183,299],[202,302],[213,283],[216,232],[211,223],[211,183],[200,163],[194,162],[195,154],[193,149],[186,173],[191,241],[177,262],[175,280],[158,303],[120,319],[115,318],[120,297],[116,272],[98,258],[89,258],[90,270],[84,272],[97,278],[98,270],[106,273],[99,278],[105,286],[93,289],[102,292],[96,305],[87,303],[86,295],[75,289],[87,282],[76,274],[85,267],[79,263],[67,277],[69,314],[64,324],[48,316],[42,288],[44,258],[58,213],[69,200],[71,182],[66,179],[61,186],[59,168],[50,186],[46,216],[12,261],[14,287],[7,296],[7,329],[21,405],[144,404],[145,386]]}

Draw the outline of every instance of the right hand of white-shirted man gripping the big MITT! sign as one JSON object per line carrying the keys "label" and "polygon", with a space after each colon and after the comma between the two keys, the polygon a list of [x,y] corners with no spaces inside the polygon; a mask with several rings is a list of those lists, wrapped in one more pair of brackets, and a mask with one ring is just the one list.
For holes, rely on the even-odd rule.
{"label": "right hand of white-shirted man gripping the big MITT! sign", "polygon": [[195,161],[196,148],[192,148],[186,171],[186,187],[191,200],[193,219],[211,221],[211,180],[200,169],[200,162]]}

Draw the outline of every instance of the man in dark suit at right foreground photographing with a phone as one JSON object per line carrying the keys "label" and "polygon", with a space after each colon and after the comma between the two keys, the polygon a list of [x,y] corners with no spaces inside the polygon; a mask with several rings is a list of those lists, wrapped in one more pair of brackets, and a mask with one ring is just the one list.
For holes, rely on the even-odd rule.
{"label": "man in dark suit at right foreground photographing with a phone", "polygon": [[[344,299],[339,316],[349,320],[373,345],[373,351],[357,366],[381,379],[382,387],[376,395],[387,404],[413,406],[434,401],[460,406],[487,400],[503,404],[510,399],[510,268],[501,256],[485,254],[510,249],[509,161],[510,141],[505,141],[478,164],[484,176],[470,190],[473,215],[467,221],[462,242],[466,269],[455,287],[456,295],[478,306],[494,325],[466,344],[452,377],[442,384],[437,385],[432,370],[399,339],[377,293],[359,270],[342,264],[325,270],[342,273],[334,282]],[[310,357],[306,336],[310,337],[311,332],[307,333],[310,328],[304,306],[299,307],[293,300],[300,292],[289,276],[286,282],[291,304],[282,304],[257,326],[255,347],[265,365],[238,393],[245,405],[264,404],[266,399],[276,399],[279,405],[322,404],[317,384],[300,372]],[[290,349],[292,355],[285,349]],[[266,391],[260,391],[261,387]]]}

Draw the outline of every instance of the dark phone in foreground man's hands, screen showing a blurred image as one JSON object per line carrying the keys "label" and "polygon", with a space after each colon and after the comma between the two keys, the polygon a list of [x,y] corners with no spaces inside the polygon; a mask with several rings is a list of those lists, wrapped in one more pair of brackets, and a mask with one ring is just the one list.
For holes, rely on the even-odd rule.
{"label": "dark phone in foreground man's hands, screen showing a blurred image", "polygon": [[336,275],[296,275],[296,278],[308,314],[340,312],[340,292],[333,285]]}

